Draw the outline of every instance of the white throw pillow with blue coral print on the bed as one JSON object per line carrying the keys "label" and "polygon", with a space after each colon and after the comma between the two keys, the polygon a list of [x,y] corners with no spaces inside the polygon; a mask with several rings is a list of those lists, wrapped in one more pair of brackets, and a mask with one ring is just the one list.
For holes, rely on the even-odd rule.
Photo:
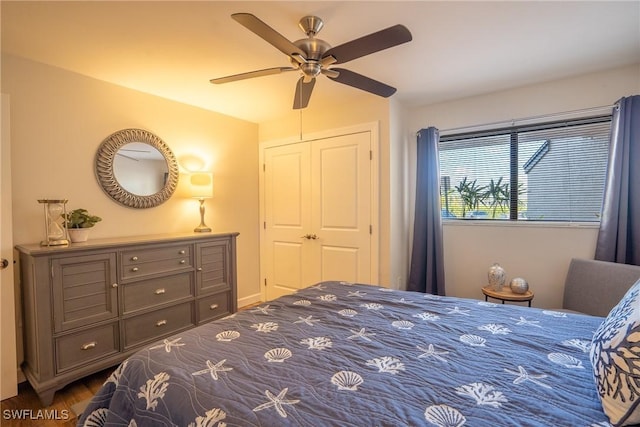
{"label": "white throw pillow with blue coral print on the bed", "polygon": [[596,330],[590,356],[602,409],[611,424],[640,423],[640,280]]}

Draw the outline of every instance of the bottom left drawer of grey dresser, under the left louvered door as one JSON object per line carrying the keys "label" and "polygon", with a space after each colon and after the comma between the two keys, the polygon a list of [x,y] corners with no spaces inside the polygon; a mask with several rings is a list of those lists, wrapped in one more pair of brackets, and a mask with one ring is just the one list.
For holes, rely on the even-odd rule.
{"label": "bottom left drawer of grey dresser, under the left louvered door", "polygon": [[110,323],[56,338],[55,348],[57,372],[116,354],[119,351],[118,323]]}

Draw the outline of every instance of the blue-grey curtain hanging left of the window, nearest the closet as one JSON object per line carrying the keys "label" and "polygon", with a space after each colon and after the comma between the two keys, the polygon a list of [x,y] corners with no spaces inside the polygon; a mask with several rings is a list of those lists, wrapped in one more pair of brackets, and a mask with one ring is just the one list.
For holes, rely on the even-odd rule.
{"label": "blue-grey curtain hanging left of the window, nearest the closet", "polygon": [[416,214],[407,289],[445,295],[438,166],[439,139],[438,129],[434,127],[418,132]]}

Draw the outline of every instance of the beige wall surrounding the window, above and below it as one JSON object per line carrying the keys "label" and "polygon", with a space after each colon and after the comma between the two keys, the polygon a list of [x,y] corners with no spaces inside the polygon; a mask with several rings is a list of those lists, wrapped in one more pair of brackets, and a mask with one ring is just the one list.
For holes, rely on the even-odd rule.
{"label": "beige wall surrounding the window, above and below it", "polygon": [[[454,102],[412,109],[409,128],[441,130],[531,116],[612,105],[640,93],[640,64],[557,80]],[[415,143],[409,145],[412,215],[415,194]],[[411,219],[411,224],[413,220]],[[564,278],[572,257],[593,258],[597,228],[507,226],[445,222],[447,294],[480,298],[487,270],[498,262],[507,276],[526,278],[535,292],[534,306],[560,307]]]}

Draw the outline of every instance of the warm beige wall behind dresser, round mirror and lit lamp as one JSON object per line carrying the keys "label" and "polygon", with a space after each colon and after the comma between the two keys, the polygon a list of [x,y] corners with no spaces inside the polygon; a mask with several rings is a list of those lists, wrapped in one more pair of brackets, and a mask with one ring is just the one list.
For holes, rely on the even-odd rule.
{"label": "warm beige wall behind dresser, round mirror and lit lamp", "polygon": [[156,208],[132,209],[98,186],[93,162],[102,140],[142,128],[163,139],[178,163],[189,155],[208,163],[214,197],[205,222],[214,232],[240,233],[238,296],[242,304],[259,295],[257,124],[11,56],[2,58],[2,92],[11,97],[15,244],[44,237],[42,198],[66,198],[68,209],[101,216],[91,238],[193,230],[200,222],[194,199],[174,194]]}

